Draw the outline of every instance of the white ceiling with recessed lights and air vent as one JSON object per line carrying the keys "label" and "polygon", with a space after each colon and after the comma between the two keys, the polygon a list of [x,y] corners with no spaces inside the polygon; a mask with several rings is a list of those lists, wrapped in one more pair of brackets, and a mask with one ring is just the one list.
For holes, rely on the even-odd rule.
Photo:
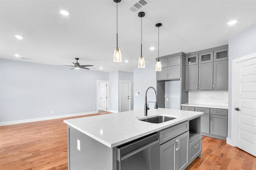
{"label": "white ceiling with recessed lights and air vent", "polygon": [[[90,67],[92,70],[132,72],[140,56],[140,18],[138,12],[128,9],[135,2],[118,3],[118,47],[122,62],[114,63],[116,3],[113,0],[1,0],[0,57],[51,65],[72,65],[78,57],[81,65],[94,65]],[[149,2],[141,10],[146,13],[142,18],[142,55],[146,67],[158,57],[156,23],[163,24],[160,56],[225,45],[229,38],[256,24],[254,0]],[[70,15],[63,16],[60,10]],[[234,19],[238,20],[235,25],[227,25]],[[24,39],[17,40],[15,34]],[[156,47],[154,51],[149,49],[152,46]],[[16,53],[29,60],[15,57]],[[128,63],[124,62],[126,59]]]}

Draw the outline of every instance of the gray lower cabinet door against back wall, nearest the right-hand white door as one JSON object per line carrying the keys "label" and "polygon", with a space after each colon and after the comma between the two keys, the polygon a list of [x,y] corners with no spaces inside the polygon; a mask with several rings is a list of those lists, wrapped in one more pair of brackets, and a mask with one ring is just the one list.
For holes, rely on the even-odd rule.
{"label": "gray lower cabinet door against back wall, nearest the right-hand white door", "polygon": [[227,137],[228,118],[221,115],[210,115],[210,134]]}

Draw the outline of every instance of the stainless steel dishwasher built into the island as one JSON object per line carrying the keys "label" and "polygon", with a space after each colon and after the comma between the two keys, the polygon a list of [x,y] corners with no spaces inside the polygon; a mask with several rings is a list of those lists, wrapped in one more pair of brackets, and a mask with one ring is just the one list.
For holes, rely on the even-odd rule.
{"label": "stainless steel dishwasher built into the island", "polygon": [[117,170],[159,170],[159,133],[117,147]]}

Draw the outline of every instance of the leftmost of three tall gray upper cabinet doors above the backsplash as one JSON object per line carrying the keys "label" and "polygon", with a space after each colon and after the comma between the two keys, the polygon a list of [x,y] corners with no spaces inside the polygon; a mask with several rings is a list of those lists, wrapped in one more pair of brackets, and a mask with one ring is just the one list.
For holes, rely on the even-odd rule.
{"label": "leftmost of three tall gray upper cabinet doors above the backsplash", "polygon": [[185,71],[186,90],[198,89],[198,65],[188,65]]}

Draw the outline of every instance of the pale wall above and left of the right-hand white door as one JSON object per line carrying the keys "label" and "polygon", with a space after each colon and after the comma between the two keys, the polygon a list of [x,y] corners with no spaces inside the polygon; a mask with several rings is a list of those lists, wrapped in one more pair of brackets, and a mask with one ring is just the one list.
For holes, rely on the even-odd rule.
{"label": "pale wall above and left of the right-hand white door", "polygon": [[256,52],[256,25],[228,40],[228,138],[232,120],[232,60]]}

